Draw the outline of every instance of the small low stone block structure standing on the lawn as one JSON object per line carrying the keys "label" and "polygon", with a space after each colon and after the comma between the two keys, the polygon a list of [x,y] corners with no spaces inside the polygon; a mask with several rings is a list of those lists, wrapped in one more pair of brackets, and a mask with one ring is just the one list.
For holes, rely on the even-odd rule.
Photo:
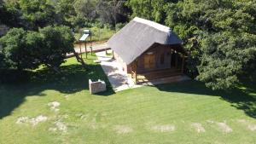
{"label": "small low stone block structure standing on the lawn", "polygon": [[90,94],[96,94],[107,90],[106,83],[100,79],[96,82],[92,82],[89,79],[89,89]]}

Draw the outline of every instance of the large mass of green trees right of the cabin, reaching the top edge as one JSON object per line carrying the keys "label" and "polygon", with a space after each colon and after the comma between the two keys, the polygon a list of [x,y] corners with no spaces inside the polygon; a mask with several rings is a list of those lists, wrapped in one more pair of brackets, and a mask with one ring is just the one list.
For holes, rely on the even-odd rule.
{"label": "large mass of green trees right of the cabin, reaching the top edge", "polygon": [[186,0],[166,5],[166,25],[183,38],[189,72],[212,89],[230,89],[255,72],[255,9],[250,0]]}

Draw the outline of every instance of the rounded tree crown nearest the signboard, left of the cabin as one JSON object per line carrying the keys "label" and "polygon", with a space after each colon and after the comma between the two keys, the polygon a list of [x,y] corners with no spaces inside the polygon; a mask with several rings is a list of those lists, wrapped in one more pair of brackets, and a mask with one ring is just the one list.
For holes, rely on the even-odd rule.
{"label": "rounded tree crown nearest the signboard, left of the cabin", "polygon": [[47,26],[39,30],[43,45],[38,49],[38,59],[42,64],[59,72],[58,67],[65,62],[67,53],[73,52],[74,37],[67,26]]}

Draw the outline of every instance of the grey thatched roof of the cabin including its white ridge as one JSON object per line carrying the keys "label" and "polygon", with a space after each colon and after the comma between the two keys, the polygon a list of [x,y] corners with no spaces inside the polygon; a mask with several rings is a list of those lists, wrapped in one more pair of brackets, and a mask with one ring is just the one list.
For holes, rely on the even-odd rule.
{"label": "grey thatched roof of the cabin including its white ridge", "polygon": [[181,44],[182,40],[169,27],[137,17],[108,40],[108,46],[126,64],[136,60],[154,43],[174,45]]}

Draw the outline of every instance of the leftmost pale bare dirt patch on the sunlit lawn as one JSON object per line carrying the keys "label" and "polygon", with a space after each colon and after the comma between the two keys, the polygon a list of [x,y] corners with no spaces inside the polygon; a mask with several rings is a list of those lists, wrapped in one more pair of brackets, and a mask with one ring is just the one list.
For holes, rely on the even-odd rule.
{"label": "leftmost pale bare dirt patch on the sunlit lawn", "polygon": [[20,117],[17,119],[16,124],[32,124],[32,126],[35,126],[41,122],[46,121],[47,119],[48,118],[43,115],[39,115],[35,118]]}

